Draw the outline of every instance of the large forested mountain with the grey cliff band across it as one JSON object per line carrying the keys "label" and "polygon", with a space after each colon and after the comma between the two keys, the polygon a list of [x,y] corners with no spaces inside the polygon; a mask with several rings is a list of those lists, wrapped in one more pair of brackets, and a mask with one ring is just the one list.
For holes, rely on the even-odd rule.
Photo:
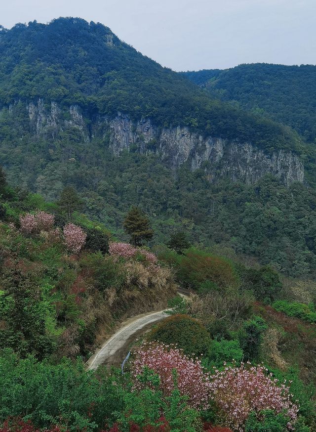
{"label": "large forested mountain with the grey cliff band across it", "polygon": [[[316,272],[314,153],[288,126],[214,98],[79,18],[0,30],[0,164],[11,184],[124,239],[139,205],[176,230],[290,275]],[[252,228],[249,229],[249,226]]]}

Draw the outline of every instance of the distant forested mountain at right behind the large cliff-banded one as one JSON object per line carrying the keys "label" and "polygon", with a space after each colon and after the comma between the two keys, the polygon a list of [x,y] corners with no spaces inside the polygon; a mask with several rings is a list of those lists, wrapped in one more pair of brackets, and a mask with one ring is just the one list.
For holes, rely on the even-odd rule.
{"label": "distant forested mountain at right behind the large cliff-banded one", "polygon": [[288,125],[306,141],[316,142],[316,66],[254,63],[181,74],[213,96]]}

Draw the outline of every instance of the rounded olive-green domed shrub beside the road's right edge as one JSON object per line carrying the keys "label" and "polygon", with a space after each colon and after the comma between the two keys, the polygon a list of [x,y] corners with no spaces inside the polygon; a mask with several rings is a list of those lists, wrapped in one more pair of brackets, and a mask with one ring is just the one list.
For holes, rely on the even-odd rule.
{"label": "rounded olive-green domed shrub beside the road's right edge", "polygon": [[188,315],[172,315],[158,324],[148,335],[149,341],[177,344],[188,355],[205,354],[211,338],[205,327]]}

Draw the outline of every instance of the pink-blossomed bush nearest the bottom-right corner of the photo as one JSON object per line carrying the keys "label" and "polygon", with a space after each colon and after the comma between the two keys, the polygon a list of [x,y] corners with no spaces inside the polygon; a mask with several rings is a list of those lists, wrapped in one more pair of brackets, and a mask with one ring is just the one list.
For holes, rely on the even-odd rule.
{"label": "pink-blossomed bush nearest the bottom-right corner of the photo", "polygon": [[[291,422],[295,422],[298,406],[291,402],[293,395],[289,388],[279,384],[277,379],[268,374],[263,365],[225,367],[223,371],[215,370],[210,377],[211,398],[214,400],[221,416],[226,419],[226,426],[235,431],[244,431],[244,423],[251,411],[271,409],[276,413],[287,412]],[[292,425],[288,425],[293,429]]]}

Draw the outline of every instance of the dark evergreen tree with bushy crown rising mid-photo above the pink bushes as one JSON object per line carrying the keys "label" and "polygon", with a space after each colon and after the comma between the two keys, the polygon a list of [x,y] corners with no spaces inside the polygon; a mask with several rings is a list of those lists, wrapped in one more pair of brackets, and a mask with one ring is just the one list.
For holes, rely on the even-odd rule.
{"label": "dark evergreen tree with bushy crown rising mid-photo above the pink bushes", "polygon": [[149,217],[138,207],[132,206],[125,216],[124,229],[130,235],[130,243],[141,246],[143,240],[150,240],[154,232],[150,227]]}

